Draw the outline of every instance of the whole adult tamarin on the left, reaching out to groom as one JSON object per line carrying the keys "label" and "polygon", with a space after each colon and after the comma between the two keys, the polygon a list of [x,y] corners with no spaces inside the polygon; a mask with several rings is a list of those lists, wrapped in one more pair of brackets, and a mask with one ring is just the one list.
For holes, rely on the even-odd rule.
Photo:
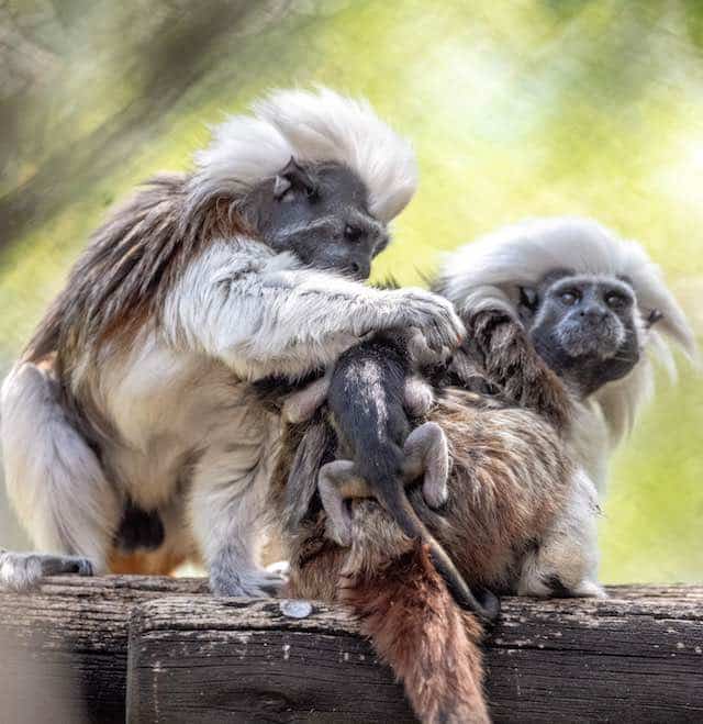
{"label": "whole adult tamarin on the left, reaching out to groom", "polygon": [[217,594],[275,590],[257,554],[280,422],[253,381],[302,378],[370,331],[417,327],[437,350],[462,334],[446,300],[361,283],[416,182],[367,103],[276,92],[196,164],[96,233],[3,385],[9,497],[55,555],[0,554],[0,583],[123,569],[145,526],[161,572],[196,559]]}

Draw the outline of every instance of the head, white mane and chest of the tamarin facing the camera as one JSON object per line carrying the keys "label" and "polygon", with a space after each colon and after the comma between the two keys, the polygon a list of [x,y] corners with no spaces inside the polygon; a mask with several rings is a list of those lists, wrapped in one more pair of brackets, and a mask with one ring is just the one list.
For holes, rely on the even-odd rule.
{"label": "head, white mane and chest of the tamarin facing the camera", "polygon": [[[639,244],[593,220],[536,219],[493,232],[449,255],[434,289],[475,327],[467,339],[481,325],[500,327],[506,347],[528,343],[563,380],[577,405],[569,441],[599,491],[654,388],[651,360],[674,370],[668,343],[696,355],[659,268]],[[477,350],[471,342],[457,355],[459,379],[470,377],[471,364],[461,363]],[[482,361],[499,387],[510,383],[500,355]]]}

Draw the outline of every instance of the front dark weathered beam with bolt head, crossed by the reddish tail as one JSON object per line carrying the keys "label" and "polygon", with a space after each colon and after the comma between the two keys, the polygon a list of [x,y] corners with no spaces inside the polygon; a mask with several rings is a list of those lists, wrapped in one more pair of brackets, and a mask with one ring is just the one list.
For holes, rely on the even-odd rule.
{"label": "front dark weathered beam with bolt head, crossed by the reddish tail", "polygon": [[[507,599],[488,644],[496,722],[703,720],[703,589]],[[328,606],[170,598],[135,611],[130,722],[412,721],[353,621]]]}

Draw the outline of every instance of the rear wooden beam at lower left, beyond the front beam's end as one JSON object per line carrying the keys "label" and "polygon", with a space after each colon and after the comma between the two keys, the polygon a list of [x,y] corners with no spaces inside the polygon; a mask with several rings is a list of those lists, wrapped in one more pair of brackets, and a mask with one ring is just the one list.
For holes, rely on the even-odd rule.
{"label": "rear wooden beam at lower left, beyond the front beam's end", "polygon": [[71,576],[29,595],[0,592],[0,721],[124,722],[133,606],[207,590],[202,580]]}

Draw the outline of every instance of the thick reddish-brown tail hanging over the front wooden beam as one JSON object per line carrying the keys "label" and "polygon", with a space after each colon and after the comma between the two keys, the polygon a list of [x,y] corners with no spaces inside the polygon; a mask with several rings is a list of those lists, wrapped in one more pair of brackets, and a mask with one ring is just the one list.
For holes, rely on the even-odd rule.
{"label": "thick reddish-brown tail hanging over the front wooden beam", "polygon": [[481,624],[455,604],[426,544],[399,543],[402,536],[386,516],[362,517],[342,575],[341,602],[403,682],[420,721],[489,723]]}

